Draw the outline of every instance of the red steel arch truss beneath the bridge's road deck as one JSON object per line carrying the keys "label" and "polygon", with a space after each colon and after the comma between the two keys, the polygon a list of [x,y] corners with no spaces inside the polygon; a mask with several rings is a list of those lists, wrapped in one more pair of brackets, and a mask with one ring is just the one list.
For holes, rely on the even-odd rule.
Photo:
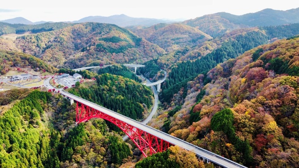
{"label": "red steel arch truss beneath the bridge's road deck", "polygon": [[172,145],[171,143],[164,141],[163,139],[160,139],[155,135],[149,134],[128,123],[111,117],[106,113],[103,113],[77,101],[76,124],[79,124],[80,122],[86,122],[90,118],[103,118],[118,126],[125,134],[128,135],[128,137],[140,149],[145,157],[147,157],[148,155],[152,155],[153,153],[166,151],[169,146]]}

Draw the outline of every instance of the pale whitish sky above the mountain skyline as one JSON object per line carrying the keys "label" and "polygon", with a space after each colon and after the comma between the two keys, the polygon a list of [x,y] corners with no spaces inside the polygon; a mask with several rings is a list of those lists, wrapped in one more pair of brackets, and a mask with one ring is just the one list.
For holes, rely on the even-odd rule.
{"label": "pale whitish sky above the mountain skyline", "polygon": [[244,15],[266,8],[295,9],[299,0],[5,0],[0,5],[0,20],[24,17],[32,22],[58,22],[121,14],[187,20],[218,12]]}

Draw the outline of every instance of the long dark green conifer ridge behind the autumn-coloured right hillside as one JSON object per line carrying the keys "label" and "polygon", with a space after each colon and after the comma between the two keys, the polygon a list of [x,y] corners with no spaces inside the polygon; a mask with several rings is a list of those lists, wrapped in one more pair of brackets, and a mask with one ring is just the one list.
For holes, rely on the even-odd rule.
{"label": "long dark green conifer ridge behind the autumn-coloured right hillside", "polygon": [[[186,87],[188,81],[223,61],[236,58],[246,50],[259,45],[271,43],[277,40],[278,37],[285,38],[299,34],[298,26],[299,24],[291,24],[234,30],[222,37],[204,42],[203,46],[214,46],[214,50],[211,48],[211,52],[206,55],[200,54],[205,53],[200,52],[200,50],[204,50],[203,46],[200,48],[196,46],[193,49],[182,48],[176,50],[176,52],[159,57],[155,61],[157,67],[162,67],[169,71],[168,78],[162,84],[160,101],[171,101],[173,95],[180,88]],[[205,49],[209,48],[205,47]],[[152,68],[142,69],[144,74],[148,74],[150,71],[154,73],[152,70]],[[155,72],[157,73],[158,70]]]}

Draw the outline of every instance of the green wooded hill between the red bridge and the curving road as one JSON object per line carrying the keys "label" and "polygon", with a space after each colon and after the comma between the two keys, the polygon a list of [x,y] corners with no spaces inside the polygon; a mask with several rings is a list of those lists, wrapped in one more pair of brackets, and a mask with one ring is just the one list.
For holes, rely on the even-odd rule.
{"label": "green wooded hill between the red bridge and the curving road", "polygon": [[142,119],[143,107],[150,109],[152,106],[153,95],[143,84],[108,73],[96,76],[96,80],[97,84],[68,91],[133,119]]}

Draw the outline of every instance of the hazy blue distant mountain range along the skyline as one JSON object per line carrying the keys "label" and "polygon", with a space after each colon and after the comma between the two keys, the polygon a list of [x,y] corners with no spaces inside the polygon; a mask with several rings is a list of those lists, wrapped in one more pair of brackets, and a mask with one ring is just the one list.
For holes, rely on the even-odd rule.
{"label": "hazy blue distant mountain range along the skyline", "polygon": [[[208,19],[207,19],[208,17]],[[84,22],[98,22],[98,23],[110,23],[116,24],[121,27],[127,26],[152,26],[158,23],[176,23],[183,22],[184,24],[190,25],[189,23],[194,22],[196,20],[207,19],[208,21],[214,19],[212,17],[221,17],[222,19],[228,20],[231,24],[238,25],[247,25],[247,26],[275,26],[281,24],[289,24],[289,23],[299,23],[299,8],[290,9],[286,11],[281,10],[273,10],[273,9],[264,9],[262,11],[256,13],[249,13],[241,16],[232,15],[225,12],[205,15],[202,17],[196,17],[194,19],[189,20],[164,20],[164,19],[156,19],[156,18],[139,18],[139,17],[128,17],[126,15],[113,15],[110,17],[103,16],[89,16],[84,17],[79,20],[69,21],[69,23],[84,23]],[[0,22],[6,22],[10,24],[42,24],[47,21],[38,21],[32,22],[23,17],[16,17],[7,20],[2,20]]]}

